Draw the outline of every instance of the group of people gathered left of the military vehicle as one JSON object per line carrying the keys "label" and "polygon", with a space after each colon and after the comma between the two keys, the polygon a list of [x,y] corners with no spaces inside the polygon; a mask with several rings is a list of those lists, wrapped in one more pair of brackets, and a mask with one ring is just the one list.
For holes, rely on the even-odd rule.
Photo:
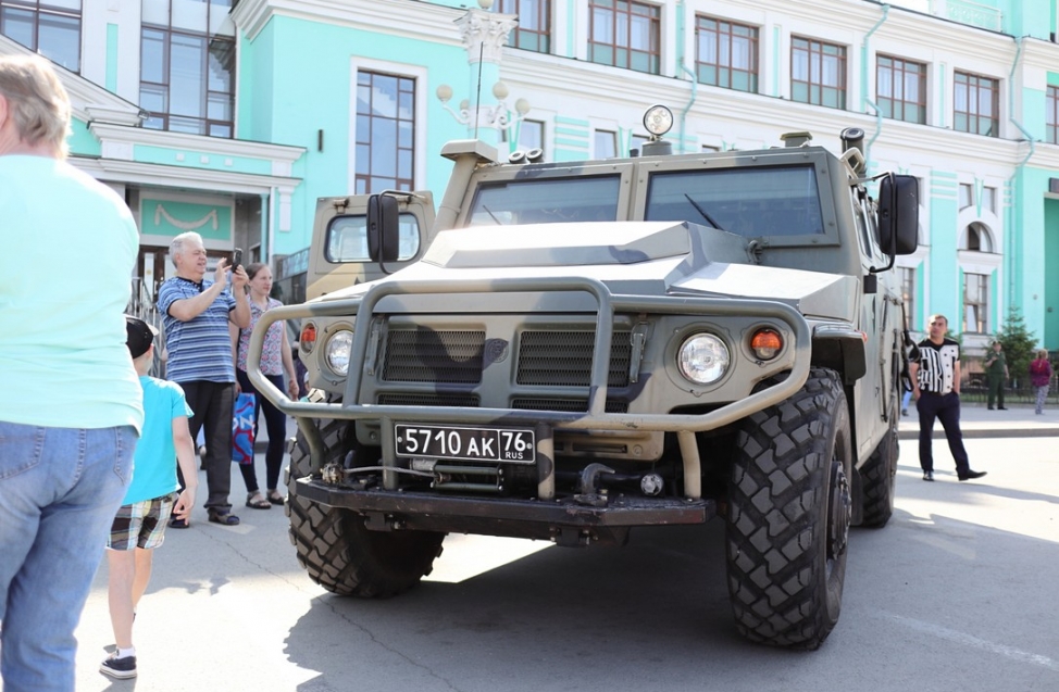
{"label": "group of people gathered left of the military vehicle", "polygon": [[[157,295],[166,379],[151,377],[158,330],[125,315],[139,231],[117,193],[66,161],[70,131],[70,98],[51,63],[0,56],[7,243],[0,253],[0,687],[7,692],[74,689],[74,630],[104,554],[115,646],[100,670],[136,676],[136,606],[166,527],[188,526],[200,430],[208,518],[239,524],[228,501],[233,404],[239,390],[254,392],[247,347],[261,315],[279,304],[269,297],[267,266],[244,268],[225,259],[207,277],[202,238],[177,236],[170,247],[175,276]],[[261,366],[297,398],[282,323],[265,336]],[[267,508],[284,502],[286,422],[261,397],[257,406],[269,430],[264,496],[253,465],[241,470],[247,505]]]}

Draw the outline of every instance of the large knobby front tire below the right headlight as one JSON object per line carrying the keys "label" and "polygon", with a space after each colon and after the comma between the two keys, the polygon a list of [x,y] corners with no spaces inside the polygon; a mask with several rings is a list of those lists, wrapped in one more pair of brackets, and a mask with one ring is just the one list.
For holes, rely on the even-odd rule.
{"label": "large knobby front tire below the right headlight", "polygon": [[838,374],[812,368],[790,399],[746,419],[728,483],[726,557],[747,639],[817,649],[842,607],[852,464]]}

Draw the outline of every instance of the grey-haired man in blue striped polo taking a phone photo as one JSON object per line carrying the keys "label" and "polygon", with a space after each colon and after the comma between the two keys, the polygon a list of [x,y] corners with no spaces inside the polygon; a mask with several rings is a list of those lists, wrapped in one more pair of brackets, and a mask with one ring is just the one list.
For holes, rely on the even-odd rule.
{"label": "grey-haired man in blue striped polo taking a phone photo", "polygon": [[[158,291],[158,309],[165,326],[169,353],[165,376],[183,389],[194,412],[191,437],[205,427],[205,508],[210,521],[234,526],[228,491],[232,486],[232,407],[235,403],[235,364],[228,323],[250,325],[247,273],[241,266],[217,263],[214,279],[205,278],[207,254],[197,232],[180,234],[170,243],[176,276]],[[232,290],[228,290],[231,279]],[[183,487],[183,478],[180,482]],[[174,518],[170,526],[186,528]]]}

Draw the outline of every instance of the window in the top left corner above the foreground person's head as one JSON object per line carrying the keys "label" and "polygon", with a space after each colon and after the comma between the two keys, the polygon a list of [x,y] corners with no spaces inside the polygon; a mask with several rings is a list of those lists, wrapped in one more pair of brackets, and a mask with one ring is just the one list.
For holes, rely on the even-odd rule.
{"label": "window in the top left corner above the foreground person's head", "polygon": [[2,0],[0,34],[71,72],[80,72],[82,0]]}

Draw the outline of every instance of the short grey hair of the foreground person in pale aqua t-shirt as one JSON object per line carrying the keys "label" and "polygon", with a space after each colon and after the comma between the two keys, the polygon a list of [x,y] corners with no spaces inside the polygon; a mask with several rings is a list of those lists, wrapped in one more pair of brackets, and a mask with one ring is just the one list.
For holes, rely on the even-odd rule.
{"label": "short grey hair of the foreground person in pale aqua t-shirt", "polygon": [[51,63],[39,55],[0,55],[0,96],[18,137],[28,144],[48,144],[68,153],[70,97]]}

